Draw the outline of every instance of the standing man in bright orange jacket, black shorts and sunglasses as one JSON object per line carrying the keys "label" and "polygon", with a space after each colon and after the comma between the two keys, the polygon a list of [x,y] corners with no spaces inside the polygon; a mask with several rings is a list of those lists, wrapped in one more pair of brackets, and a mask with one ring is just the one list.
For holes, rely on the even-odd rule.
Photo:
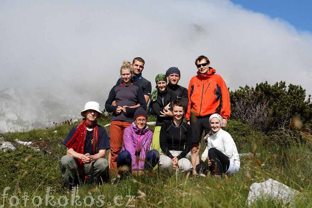
{"label": "standing man in bright orange jacket, black shorts and sunglasses", "polygon": [[[222,108],[220,115],[223,118],[222,128],[226,126],[230,118],[231,104],[230,94],[222,77],[215,74],[215,69],[209,67],[210,61],[205,56],[199,56],[195,65],[198,69],[197,76],[192,77],[189,88],[189,103],[186,112],[186,121],[191,125],[193,132],[193,143],[191,152],[191,163],[193,167],[199,164],[199,151],[201,149],[201,136],[205,130],[209,133],[209,117],[219,113],[218,107],[222,96]],[[193,174],[197,175],[195,168]]]}

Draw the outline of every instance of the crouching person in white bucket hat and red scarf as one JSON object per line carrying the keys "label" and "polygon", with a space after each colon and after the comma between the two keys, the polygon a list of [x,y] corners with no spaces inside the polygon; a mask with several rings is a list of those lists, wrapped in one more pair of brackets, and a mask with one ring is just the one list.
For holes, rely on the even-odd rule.
{"label": "crouching person in white bucket hat and red scarf", "polygon": [[97,124],[97,119],[103,116],[100,104],[87,102],[81,115],[84,118],[72,127],[63,142],[67,151],[61,158],[60,167],[64,186],[69,189],[73,189],[79,179],[87,179],[89,183],[109,179],[105,151],[111,146],[105,128]]}

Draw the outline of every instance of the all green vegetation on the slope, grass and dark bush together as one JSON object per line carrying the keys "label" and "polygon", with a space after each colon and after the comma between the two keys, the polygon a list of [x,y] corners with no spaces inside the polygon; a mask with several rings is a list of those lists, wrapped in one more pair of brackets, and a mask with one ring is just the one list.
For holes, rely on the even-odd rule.
{"label": "all green vegetation on the slope, grass and dark bush together", "polygon": [[[271,178],[300,193],[290,203],[259,198],[252,207],[312,207],[312,104],[301,86],[285,82],[240,87],[230,92],[231,118],[225,131],[240,157],[234,176],[166,176],[158,170],[128,176],[117,185],[103,181],[62,187],[62,145],[76,122],[53,122],[46,129],[1,133],[16,151],[0,151],[1,207],[246,207],[251,184]],[[149,115],[148,121],[156,121]],[[110,114],[98,120],[110,123]],[[154,125],[149,125],[151,131]],[[109,132],[109,126],[105,127]],[[31,147],[17,143],[32,141]],[[201,143],[201,153],[206,145]],[[35,149],[34,149],[35,148]],[[107,159],[108,151],[106,151]],[[114,174],[110,173],[113,178]]]}

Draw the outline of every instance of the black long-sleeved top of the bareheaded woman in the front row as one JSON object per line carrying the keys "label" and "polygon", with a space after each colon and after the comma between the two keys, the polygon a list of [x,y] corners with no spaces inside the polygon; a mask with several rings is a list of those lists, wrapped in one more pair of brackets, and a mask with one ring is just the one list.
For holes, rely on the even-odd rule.
{"label": "black long-sleeved top of the bareheaded woman in the front row", "polygon": [[181,122],[176,126],[173,121],[167,121],[161,125],[159,135],[160,148],[171,159],[169,150],[182,151],[177,156],[178,160],[185,157],[192,148],[192,129],[191,126],[185,122]]}

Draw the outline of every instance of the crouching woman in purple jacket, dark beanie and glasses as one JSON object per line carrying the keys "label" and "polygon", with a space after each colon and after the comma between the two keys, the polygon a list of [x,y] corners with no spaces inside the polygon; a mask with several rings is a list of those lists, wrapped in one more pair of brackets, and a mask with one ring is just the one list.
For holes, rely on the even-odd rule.
{"label": "crouching woman in purple jacket, dark beanie and glasses", "polygon": [[[122,151],[117,157],[117,168],[127,166],[132,175],[142,175],[144,169],[152,169],[159,161],[159,152],[150,150],[153,133],[148,130],[147,113],[139,107],[134,113],[133,123],[125,129]],[[141,159],[137,160],[137,157]],[[121,171],[112,180],[116,184],[122,177]]]}

